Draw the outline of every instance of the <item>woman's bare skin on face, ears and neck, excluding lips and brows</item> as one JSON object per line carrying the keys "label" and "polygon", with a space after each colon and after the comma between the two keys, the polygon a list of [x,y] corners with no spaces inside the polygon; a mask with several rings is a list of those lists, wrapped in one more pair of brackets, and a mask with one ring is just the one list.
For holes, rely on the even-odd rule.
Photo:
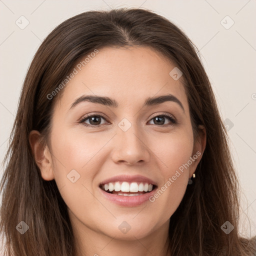
{"label": "woman's bare skin on face, ears and neck, excluding lips and brows", "polygon": [[[40,133],[30,132],[41,176],[55,179],[81,254],[167,253],[169,218],[184,195],[206,143],[204,127],[193,139],[182,79],[174,80],[169,75],[174,66],[149,47],[100,49],[61,91],[48,144],[42,147]],[[142,107],[147,97],[168,93],[180,100],[184,111],[172,101]],[[119,106],[85,101],[69,110],[76,98],[87,94],[108,96]],[[78,122],[85,114],[95,112],[105,117],[97,127]],[[153,113],[169,113],[178,123],[164,118],[164,124],[157,124]],[[122,118],[131,123],[125,132],[118,127]],[[93,125],[93,120],[85,122]],[[98,188],[102,180],[119,174],[144,175],[160,188],[196,151],[201,152],[200,156],[154,202],[118,206],[105,199]],[[74,183],[66,177],[72,169],[80,175]],[[131,227],[125,234],[118,229],[123,221]]]}

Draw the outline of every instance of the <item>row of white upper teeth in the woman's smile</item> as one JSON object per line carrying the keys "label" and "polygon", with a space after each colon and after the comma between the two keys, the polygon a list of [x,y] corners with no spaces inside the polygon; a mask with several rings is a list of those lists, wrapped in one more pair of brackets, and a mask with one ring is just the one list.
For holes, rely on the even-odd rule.
{"label": "row of white upper teeth in the woman's smile", "polygon": [[144,191],[150,192],[153,189],[152,184],[142,183],[142,182],[126,182],[126,181],[117,181],[117,182],[109,182],[103,185],[105,191],[122,191],[122,192],[137,192],[137,191]]}

